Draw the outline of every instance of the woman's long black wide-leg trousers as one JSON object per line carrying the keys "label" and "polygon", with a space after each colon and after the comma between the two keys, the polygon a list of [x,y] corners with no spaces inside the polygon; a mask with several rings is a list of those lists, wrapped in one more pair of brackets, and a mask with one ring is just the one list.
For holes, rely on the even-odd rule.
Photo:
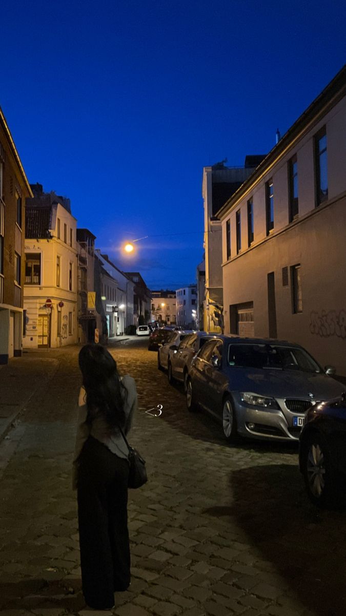
{"label": "woman's long black wide-leg trousers", "polygon": [[89,437],[79,457],[78,522],[82,589],[89,607],[107,609],[130,583],[129,463]]}

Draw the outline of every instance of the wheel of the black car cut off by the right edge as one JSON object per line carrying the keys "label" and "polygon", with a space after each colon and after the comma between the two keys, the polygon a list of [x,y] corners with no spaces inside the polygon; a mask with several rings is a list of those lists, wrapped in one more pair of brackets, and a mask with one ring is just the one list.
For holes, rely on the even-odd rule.
{"label": "wheel of the black car cut off by the right edge", "polygon": [[322,509],[345,508],[345,480],[332,464],[328,443],[313,432],[302,445],[301,468],[307,495]]}

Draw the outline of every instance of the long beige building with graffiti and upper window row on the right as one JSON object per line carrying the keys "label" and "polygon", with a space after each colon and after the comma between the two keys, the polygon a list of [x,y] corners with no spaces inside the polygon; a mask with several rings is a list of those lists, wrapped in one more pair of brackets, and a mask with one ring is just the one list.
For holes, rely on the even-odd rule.
{"label": "long beige building with graffiti and upper window row on the right", "polygon": [[346,68],[217,214],[225,332],[299,342],[346,375]]}

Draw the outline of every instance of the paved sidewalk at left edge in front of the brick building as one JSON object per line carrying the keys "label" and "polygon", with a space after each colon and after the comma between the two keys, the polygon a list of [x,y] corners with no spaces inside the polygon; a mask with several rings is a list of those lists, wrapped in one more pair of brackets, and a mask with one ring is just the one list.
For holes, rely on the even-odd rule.
{"label": "paved sidewalk at left edge in front of the brick building", "polygon": [[58,368],[58,359],[28,352],[0,366],[0,441],[15,425],[20,413],[42,383],[47,383]]}

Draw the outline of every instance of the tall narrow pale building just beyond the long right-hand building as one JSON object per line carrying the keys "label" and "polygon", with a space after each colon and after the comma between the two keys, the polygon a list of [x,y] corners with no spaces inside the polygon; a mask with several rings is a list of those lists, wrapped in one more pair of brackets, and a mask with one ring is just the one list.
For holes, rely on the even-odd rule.
{"label": "tall narrow pale building just beyond the long right-hand building", "polygon": [[214,304],[223,304],[221,222],[217,211],[243,184],[264,155],[246,156],[244,167],[226,167],[224,162],[203,168],[205,291],[203,330],[220,331]]}

